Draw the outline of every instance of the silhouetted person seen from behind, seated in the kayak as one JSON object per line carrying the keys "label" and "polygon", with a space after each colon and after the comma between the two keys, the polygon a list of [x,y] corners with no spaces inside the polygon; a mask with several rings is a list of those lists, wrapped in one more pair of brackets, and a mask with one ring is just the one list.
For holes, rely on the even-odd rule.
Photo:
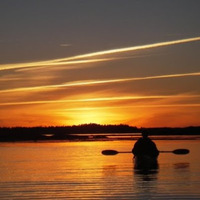
{"label": "silhouetted person seen from behind, seated in the kayak", "polygon": [[139,138],[135,143],[132,153],[135,157],[149,156],[152,158],[157,158],[159,155],[156,144],[148,137],[147,132],[142,133],[142,138]]}

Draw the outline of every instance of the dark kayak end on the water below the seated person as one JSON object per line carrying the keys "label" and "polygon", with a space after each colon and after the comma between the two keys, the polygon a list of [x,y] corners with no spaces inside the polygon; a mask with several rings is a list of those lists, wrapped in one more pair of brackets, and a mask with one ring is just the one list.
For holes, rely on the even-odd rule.
{"label": "dark kayak end on the water below the seated person", "polygon": [[158,168],[157,157],[151,157],[148,155],[135,156],[134,168],[144,169],[144,170],[157,169]]}

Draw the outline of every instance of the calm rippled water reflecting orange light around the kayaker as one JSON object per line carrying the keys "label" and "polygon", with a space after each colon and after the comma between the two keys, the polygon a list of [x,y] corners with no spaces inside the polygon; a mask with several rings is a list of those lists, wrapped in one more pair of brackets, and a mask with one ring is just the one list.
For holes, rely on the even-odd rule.
{"label": "calm rippled water reflecting orange light around the kayaker", "polygon": [[200,140],[157,140],[159,170],[141,174],[129,151],[135,141],[0,143],[0,199],[200,199]]}

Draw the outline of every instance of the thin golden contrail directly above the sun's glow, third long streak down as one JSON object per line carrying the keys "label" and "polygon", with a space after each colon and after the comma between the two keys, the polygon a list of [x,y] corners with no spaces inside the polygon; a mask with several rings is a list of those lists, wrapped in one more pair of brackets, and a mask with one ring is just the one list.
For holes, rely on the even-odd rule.
{"label": "thin golden contrail directly above the sun's glow, third long streak down", "polygon": [[169,99],[169,98],[199,98],[200,95],[150,95],[150,96],[117,96],[87,99],[64,99],[64,100],[44,100],[44,101],[24,101],[0,103],[0,106],[31,105],[31,104],[54,104],[54,103],[81,103],[81,102],[102,102],[102,101],[124,101],[142,99]]}

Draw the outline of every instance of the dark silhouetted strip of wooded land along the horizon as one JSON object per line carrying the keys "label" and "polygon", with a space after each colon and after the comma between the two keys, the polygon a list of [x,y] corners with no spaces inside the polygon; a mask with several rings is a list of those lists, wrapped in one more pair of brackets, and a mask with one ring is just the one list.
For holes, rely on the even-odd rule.
{"label": "dark silhouetted strip of wooded land along the horizon", "polygon": [[[108,136],[138,135],[148,130],[152,136],[200,135],[200,126],[184,128],[137,128],[129,125],[83,124],[77,126],[2,127],[0,142],[49,140],[109,140]],[[118,138],[119,139],[119,138]],[[135,138],[137,139],[137,138]]]}

